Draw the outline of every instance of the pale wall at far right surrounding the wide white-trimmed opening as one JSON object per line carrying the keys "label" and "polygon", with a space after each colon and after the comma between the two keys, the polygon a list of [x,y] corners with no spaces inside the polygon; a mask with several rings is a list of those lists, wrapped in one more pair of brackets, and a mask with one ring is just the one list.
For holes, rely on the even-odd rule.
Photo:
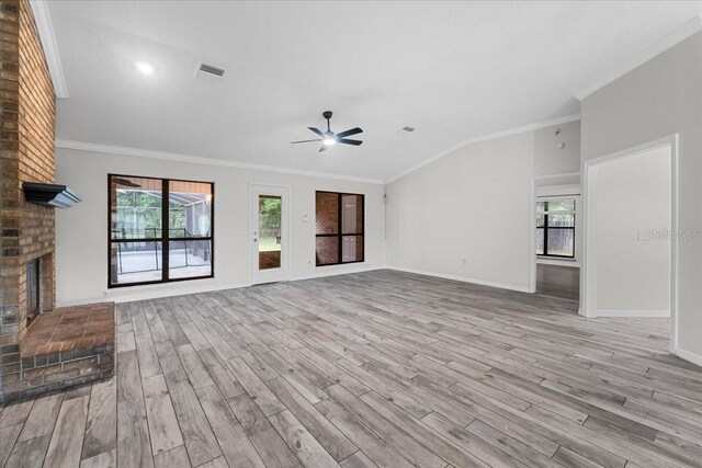
{"label": "pale wall at far right surrounding the wide white-trimmed opening", "polygon": [[[701,83],[702,33],[697,33],[581,102],[582,161],[679,135],[683,231],[702,229]],[[679,240],[678,276],[678,344],[687,358],[702,364],[700,239]]]}

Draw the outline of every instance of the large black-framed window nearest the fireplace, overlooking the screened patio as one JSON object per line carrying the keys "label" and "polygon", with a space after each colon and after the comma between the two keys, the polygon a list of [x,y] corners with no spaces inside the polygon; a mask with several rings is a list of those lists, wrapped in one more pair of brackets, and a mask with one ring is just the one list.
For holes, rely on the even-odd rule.
{"label": "large black-framed window nearest the fireplace, overlooking the screened patio", "polygon": [[214,183],[107,175],[107,286],[214,276]]}

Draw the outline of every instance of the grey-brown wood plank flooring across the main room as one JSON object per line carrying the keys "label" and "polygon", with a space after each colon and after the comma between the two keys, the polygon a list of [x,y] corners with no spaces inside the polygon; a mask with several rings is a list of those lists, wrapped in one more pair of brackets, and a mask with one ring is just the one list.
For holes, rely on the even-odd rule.
{"label": "grey-brown wood plank flooring across the main room", "polygon": [[8,467],[702,466],[661,319],[377,271],[123,304],[109,381],[0,412]]}

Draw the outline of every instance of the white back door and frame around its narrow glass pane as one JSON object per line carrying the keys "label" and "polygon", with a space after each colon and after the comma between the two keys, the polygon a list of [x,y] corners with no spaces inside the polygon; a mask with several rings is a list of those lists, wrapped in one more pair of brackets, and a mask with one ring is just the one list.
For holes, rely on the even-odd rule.
{"label": "white back door and frame around its narrow glass pane", "polygon": [[[258,194],[269,193],[271,195],[280,195],[282,198],[281,208],[281,267],[271,269],[269,271],[259,271],[259,227],[258,219]],[[293,191],[290,185],[254,183],[249,184],[249,284],[274,283],[290,279],[290,259],[292,246],[292,201]],[[257,232],[254,236],[253,232]],[[257,239],[254,241],[253,239]]]}

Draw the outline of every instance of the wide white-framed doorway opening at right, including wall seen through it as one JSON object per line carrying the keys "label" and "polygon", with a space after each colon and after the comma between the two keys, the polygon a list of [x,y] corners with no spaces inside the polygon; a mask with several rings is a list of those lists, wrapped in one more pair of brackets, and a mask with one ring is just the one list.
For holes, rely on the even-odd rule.
{"label": "wide white-framed doorway opening at right, including wall seen through it", "polygon": [[677,136],[586,161],[584,171],[580,313],[665,322],[672,352],[681,233],[677,179]]}

